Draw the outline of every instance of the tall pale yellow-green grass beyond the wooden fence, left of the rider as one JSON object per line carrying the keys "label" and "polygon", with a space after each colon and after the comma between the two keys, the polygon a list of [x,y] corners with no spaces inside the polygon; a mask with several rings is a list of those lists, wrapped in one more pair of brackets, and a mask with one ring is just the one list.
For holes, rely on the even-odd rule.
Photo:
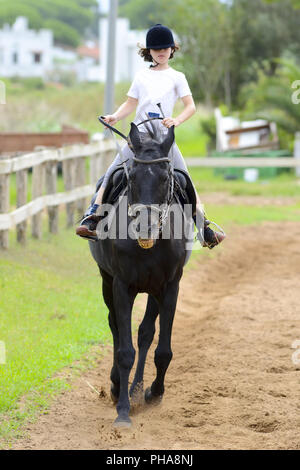
{"label": "tall pale yellow-green grass beyond the wooden fence, left of the rider", "polygon": [[[0,116],[0,131],[59,132],[63,124],[69,124],[90,133],[102,132],[97,116],[103,113],[104,84],[48,84],[42,89],[31,89],[22,80],[6,83],[7,104]],[[128,89],[129,83],[116,86],[116,106],[125,101]]]}

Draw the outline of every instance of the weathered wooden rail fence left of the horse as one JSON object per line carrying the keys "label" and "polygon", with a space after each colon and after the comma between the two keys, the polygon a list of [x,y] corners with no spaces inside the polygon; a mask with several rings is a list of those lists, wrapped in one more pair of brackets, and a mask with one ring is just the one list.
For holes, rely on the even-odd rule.
{"label": "weathered wooden rail fence left of the horse", "polygon": [[[55,150],[40,150],[0,160],[0,248],[8,248],[9,231],[16,226],[18,242],[25,244],[27,223],[32,220],[34,238],[42,235],[42,211],[47,208],[49,231],[58,231],[59,206],[66,205],[67,225],[75,222],[75,213],[83,214],[86,198],[95,191],[95,183],[116,155],[112,140],[77,144]],[[87,176],[86,160],[90,160]],[[57,192],[58,164],[62,165],[64,192]],[[28,173],[32,169],[31,201],[27,202]],[[16,209],[10,207],[10,180],[16,175]],[[87,181],[88,180],[88,181]]]}

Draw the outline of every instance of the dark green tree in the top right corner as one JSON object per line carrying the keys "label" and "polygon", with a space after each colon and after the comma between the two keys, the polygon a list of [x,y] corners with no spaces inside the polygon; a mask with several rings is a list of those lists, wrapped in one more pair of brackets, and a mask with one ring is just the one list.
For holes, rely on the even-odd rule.
{"label": "dark green tree in the top right corner", "polygon": [[231,18],[231,89],[237,101],[240,88],[258,79],[259,71],[273,76],[277,58],[300,52],[300,11],[289,0],[233,0]]}

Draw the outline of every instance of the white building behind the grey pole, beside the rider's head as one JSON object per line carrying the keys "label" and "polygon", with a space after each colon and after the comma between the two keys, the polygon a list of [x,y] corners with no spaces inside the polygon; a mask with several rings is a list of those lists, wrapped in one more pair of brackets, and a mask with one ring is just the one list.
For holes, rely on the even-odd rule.
{"label": "white building behind the grey pole, beside the rider's head", "polygon": [[[100,20],[100,77],[106,79],[108,19]],[[116,25],[116,63],[115,81],[131,81],[136,72],[145,67],[144,60],[138,55],[138,43],[144,44],[146,31],[130,30],[127,18],[118,18]]]}

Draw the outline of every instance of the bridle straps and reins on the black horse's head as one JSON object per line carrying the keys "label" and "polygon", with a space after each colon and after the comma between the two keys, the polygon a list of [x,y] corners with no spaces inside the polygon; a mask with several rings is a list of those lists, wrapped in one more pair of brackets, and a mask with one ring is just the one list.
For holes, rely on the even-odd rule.
{"label": "bridle straps and reins on the black horse's head", "polygon": [[[160,107],[160,106],[159,106]],[[160,108],[161,109],[161,108]],[[142,124],[145,124],[146,122],[149,122],[149,121],[153,121],[155,119],[164,119],[162,117],[152,117],[152,118],[149,118],[149,119],[145,119],[144,121],[142,122],[139,122],[137,124],[137,126],[141,126]],[[126,142],[128,143],[129,147],[131,148],[131,150],[133,150],[132,148],[132,145],[131,145],[131,142],[129,142],[128,140],[128,137],[126,137],[122,132],[118,131],[117,129],[115,129],[113,126],[111,126],[110,124],[107,124],[104,120],[103,120],[103,116],[99,116],[98,117],[98,120],[101,122],[101,124],[103,124],[104,126],[108,127],[108,129],[110,129],[112,135],[113,132],[115,134],[118,134],[120,137],[122,137],[123,139],[126,140]],[[122,156],[122,149],[117,141],[117,139],[115,138],[115,141],[116,141],[116,144],[117,144],[117,147],[118,147],[118,151],[120,153],[120,155]],[[169,211],[170,211],[170,204],[172,202],[172,199],[173,199],[173,196],[174,196],[174,170],[173,170],[173,167],[171,165],[171,159],[168,158],[168,157],[163,157],[163,158],[156,158],[156,159],[153,159],[153,160],[143,160],[141,158],[137,158],[136,156],[134,156],[133,158],[133,161],[135,161],[136,163],[139,163],[139,164],[142,164],[142,165],[154,165],[156,163],[163,163],[163,162],[166,162],[169,164],[169,176],[170,176],[170,181],[169,181],[169,189],[168,189],[168,197],[167,197],[167,201],[165,204],[163,204],[163,208],[162,209],[159,209],[157,207],[155,207],[154,205],[151,205],[151,204],[135,204],[134,205],[134,209],[132,207],[132,205],[128,202],[128,215],[130,217],[132,217],[134,215],[135,212],[139,211],[139,209],[141,208],[147,208],[147,209],[150,209],[151,211],[153,212],[156,212],[158,213],[159,215],[159,225],[158,225],[158,229],[159,229],[159,234],[161,233],[162,229],[163,229],[163,226],[164,224],[166,223],[167,221],[167,218],[169,216]],[[122,158],[123,162],[122,162],[122,165],[124,167],[124,171],[125,171],[125,175],[126,175],[126,178],[127,178],[127,183],[130,182],[130,177],[129,177],[129,172],[128,172],[128,167],[126,165],[126,162],[128,160],[125,160]]]}

